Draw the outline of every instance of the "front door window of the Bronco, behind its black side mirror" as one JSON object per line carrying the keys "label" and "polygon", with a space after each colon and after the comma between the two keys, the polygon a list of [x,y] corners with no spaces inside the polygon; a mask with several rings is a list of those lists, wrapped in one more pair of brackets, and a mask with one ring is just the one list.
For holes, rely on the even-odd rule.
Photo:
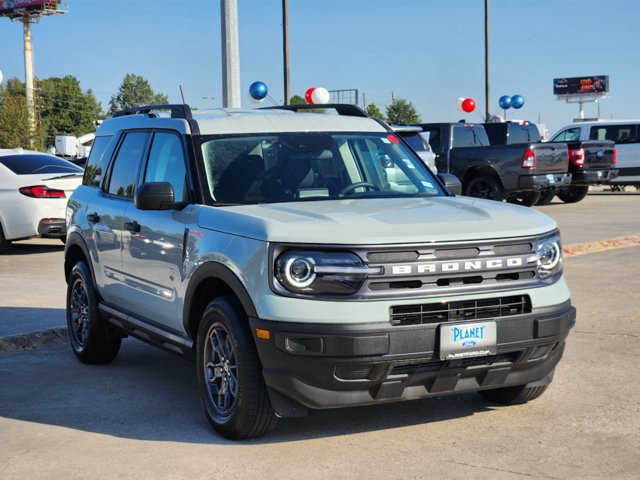
{"label": "front door window of the Bronco, behind its black side mirror", "polygon": [[182,142],[173,133],[156,133],[153,136],[145,182],[169,182],[173,187],[175,201],[188,202],[187,171]]}

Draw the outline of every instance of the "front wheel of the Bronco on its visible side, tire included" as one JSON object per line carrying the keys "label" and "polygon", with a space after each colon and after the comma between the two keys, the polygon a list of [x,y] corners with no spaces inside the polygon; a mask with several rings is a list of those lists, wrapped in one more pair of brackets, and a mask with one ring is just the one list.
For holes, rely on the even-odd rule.
{"label": "front wheel of the Bronco on its visible side, tire included", "polygon": [[230,296],[213,300],[198,327],[196,367],[207,420],[227,438],[255,438],[277,418],[246,314]]}

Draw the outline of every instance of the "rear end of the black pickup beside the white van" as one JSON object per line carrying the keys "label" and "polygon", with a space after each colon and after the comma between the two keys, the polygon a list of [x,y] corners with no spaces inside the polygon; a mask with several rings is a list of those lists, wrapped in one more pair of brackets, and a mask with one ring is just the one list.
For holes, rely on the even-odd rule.
{"label": "rear end of the black pickup beside the white van", "polygon": [[587,196],[589,185],[598,185],[618,176],[616,145],[611,140],[578,139],[570,130],[556,135],[552,142],[565,142],[569,148],[569,173],[571,185],[548,188],[540,193],[536,205],[548,205],[554,196],[565,203],[576,203]]}

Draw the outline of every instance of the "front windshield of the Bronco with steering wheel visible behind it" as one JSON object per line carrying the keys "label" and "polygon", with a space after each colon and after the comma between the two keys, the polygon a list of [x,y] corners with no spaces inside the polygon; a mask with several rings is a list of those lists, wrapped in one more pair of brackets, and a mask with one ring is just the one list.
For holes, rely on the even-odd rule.
{"label": "front windshield of the Bronco with steering wheel visible behind it", "polygon": [[277,133],[198,139],[215,203],[444,195],[387,133]]}

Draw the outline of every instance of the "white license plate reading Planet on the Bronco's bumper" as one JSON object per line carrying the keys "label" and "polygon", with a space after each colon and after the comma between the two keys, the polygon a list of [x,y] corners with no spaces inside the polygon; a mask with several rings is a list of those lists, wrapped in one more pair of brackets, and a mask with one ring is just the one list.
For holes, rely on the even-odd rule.
{"label": "white license plate reading Planet on the Bronco's bumper", "polygon": [[496,322],[440,326],[440,360],[482,357],[496,353]]}

